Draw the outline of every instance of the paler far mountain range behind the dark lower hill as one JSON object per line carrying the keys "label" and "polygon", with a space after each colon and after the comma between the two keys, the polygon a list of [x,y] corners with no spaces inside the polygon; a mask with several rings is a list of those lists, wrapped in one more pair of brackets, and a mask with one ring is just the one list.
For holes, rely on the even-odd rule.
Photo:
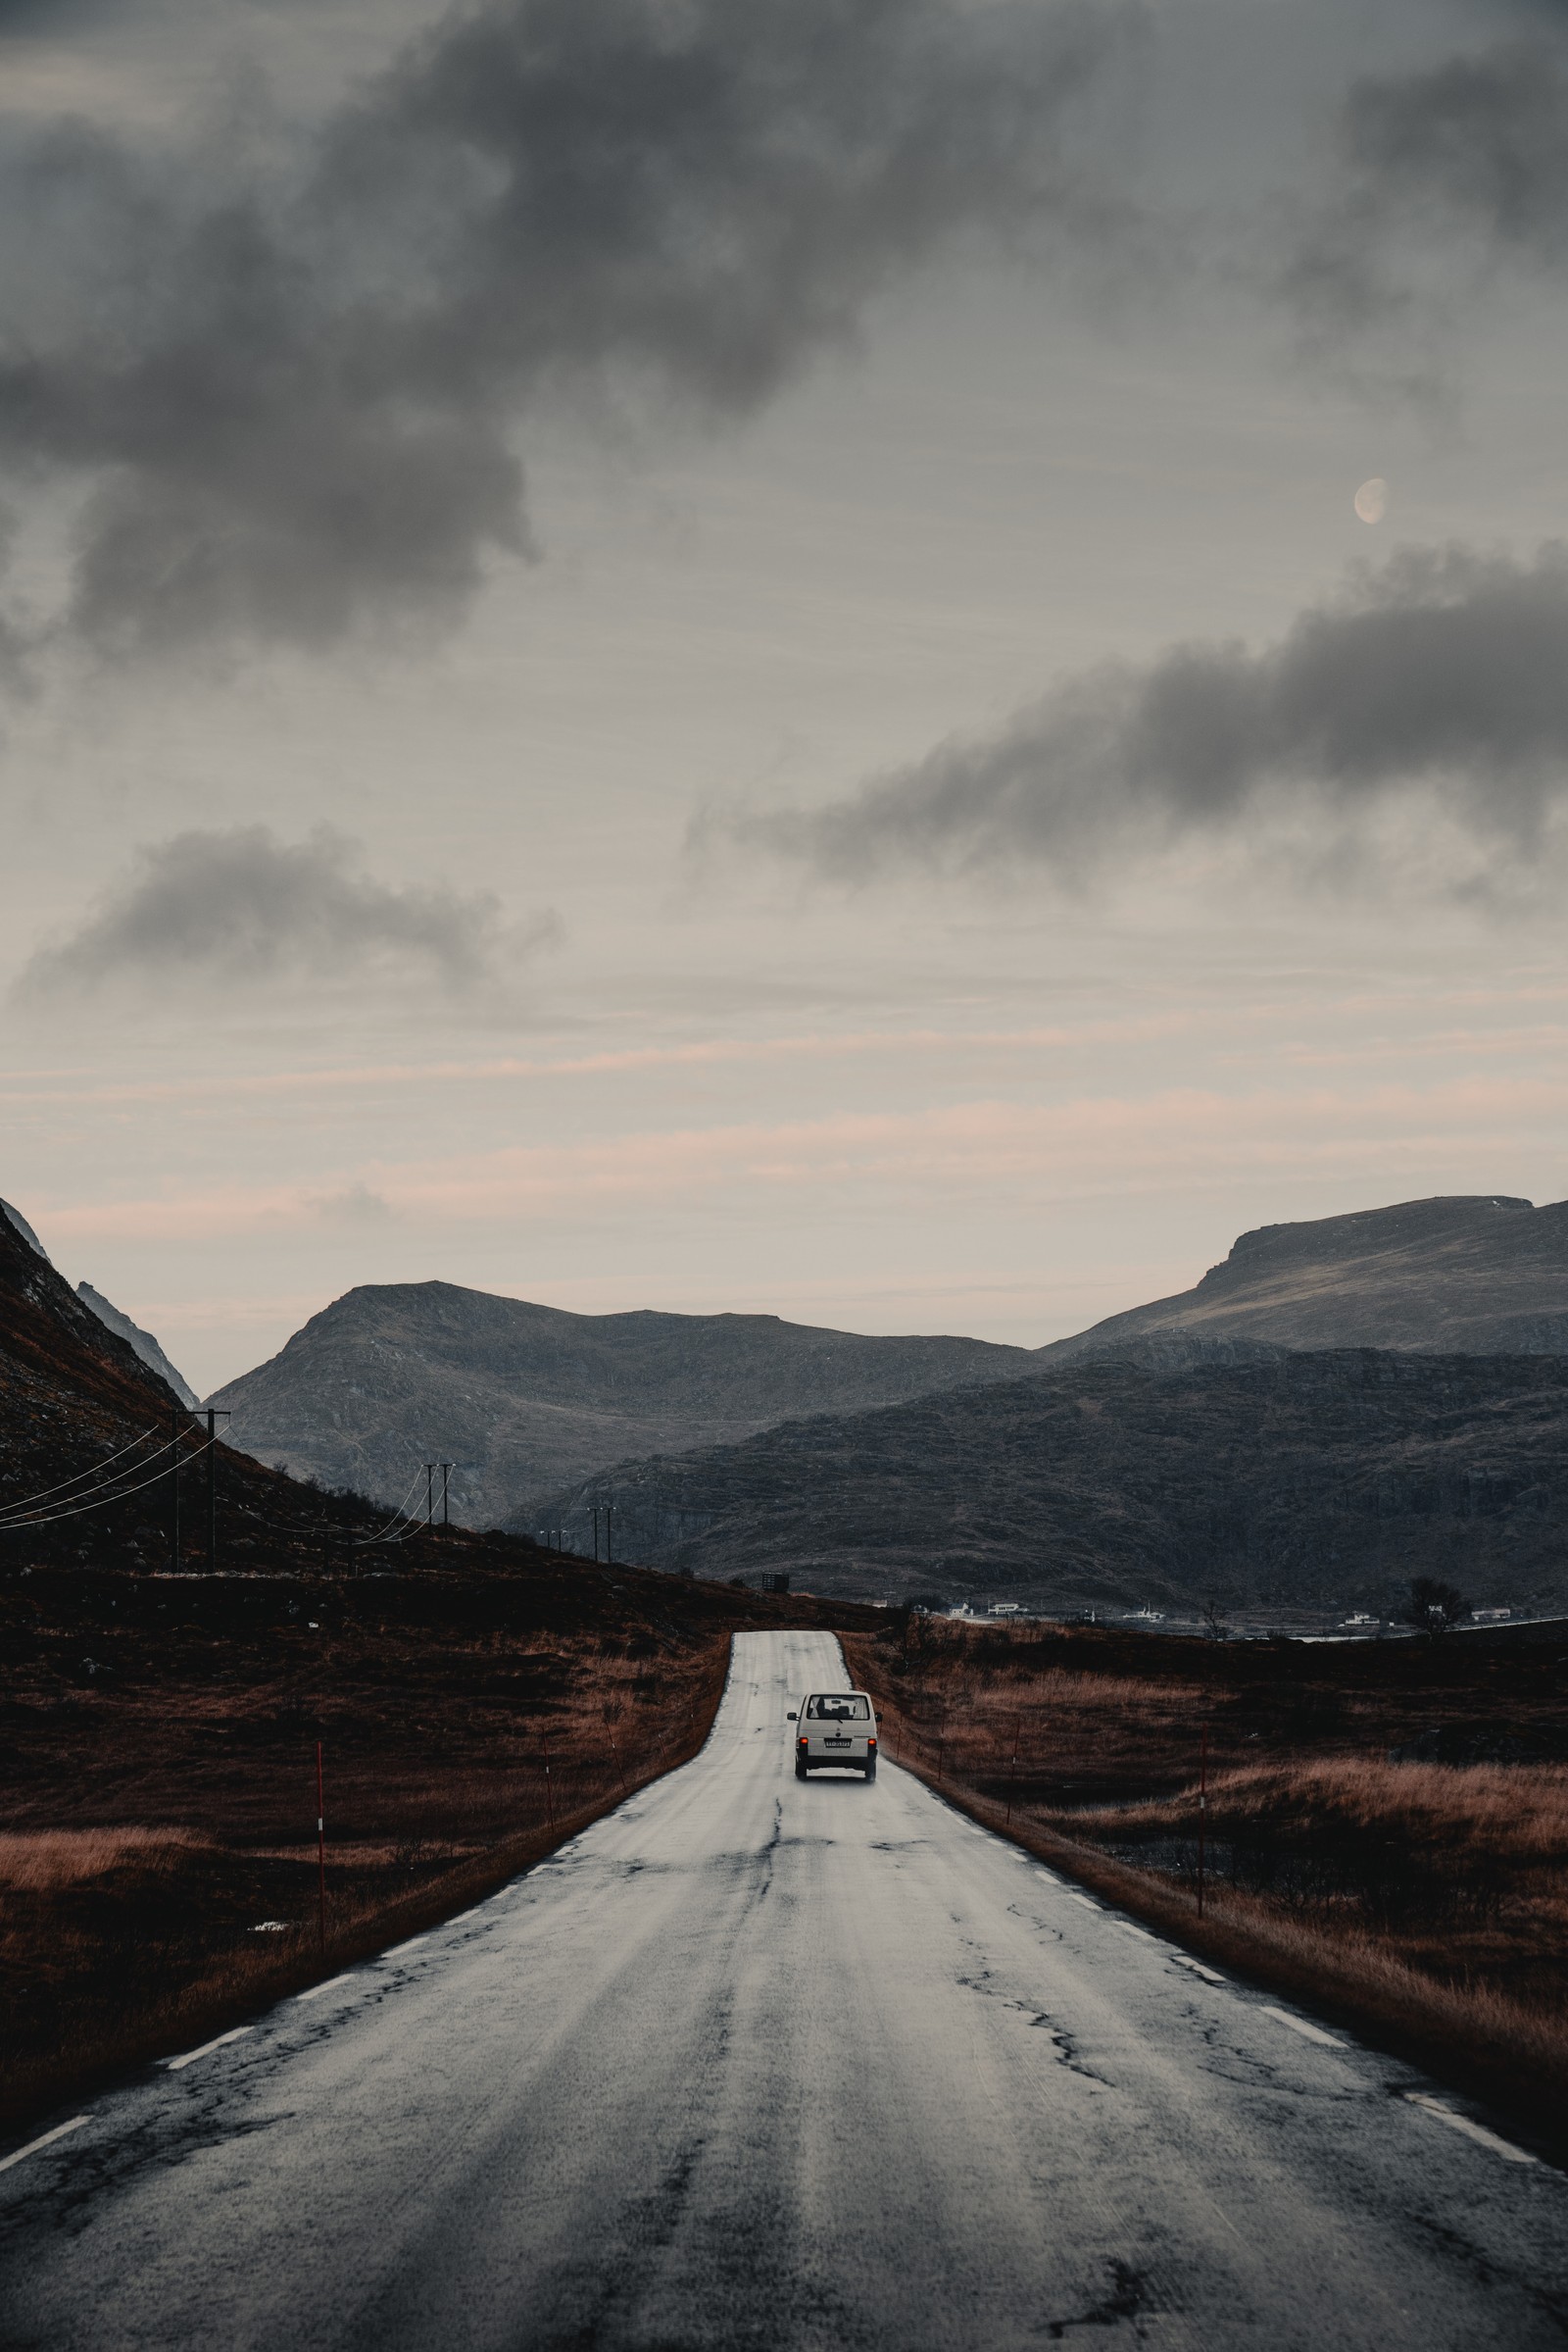
{"label": "paler far mountain range behind the dark lower hill", "polygon": [[1269,1348],[1568,1352],[1568,1204],[1481,1195],[1265,1225],[1192,1291],[1041,1350],[863,1338],[776,1315],[569,1315],[449,1282],[376,1284],[313,1315],[212,1402],[266,1463],[395,1505],[423,1463],[447,1461],[454,1517],[531,1529],[628,1463],[804,1416],[1107,1352],[1180,1369]]}

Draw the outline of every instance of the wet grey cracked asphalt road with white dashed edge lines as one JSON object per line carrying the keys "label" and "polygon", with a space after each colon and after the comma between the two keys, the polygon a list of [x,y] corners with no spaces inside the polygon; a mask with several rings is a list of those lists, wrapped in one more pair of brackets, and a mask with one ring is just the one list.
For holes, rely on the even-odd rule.
{"label": "wet grey cracked asphalt road with white dashed edge lines", "polygon": [[842,1682],[743,1635],[693,1764],[14,2161],[0,2343],[1563,2345],[1559,2171],[891,1764],[799,1785]]}

